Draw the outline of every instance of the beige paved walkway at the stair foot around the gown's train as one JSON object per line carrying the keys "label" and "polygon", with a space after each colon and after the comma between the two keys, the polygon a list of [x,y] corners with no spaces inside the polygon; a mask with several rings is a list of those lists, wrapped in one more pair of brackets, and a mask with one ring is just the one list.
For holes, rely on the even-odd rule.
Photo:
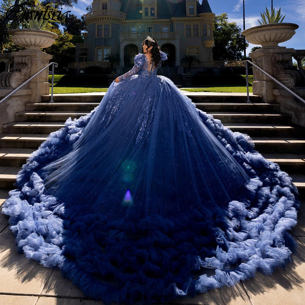
{"label": "beige paved walkway at the stair foot around the gown's train", "polygon": [[[0,190],[0,205],[8,192]],[[171,304],[200,305],[304,305],[305,296],[305,201],[293,234],[299,247],[286,270],[271,276],[257,273],[254,279],[215,289],[192,298],[180,298]],[[100,305],[85,300],[82,292],[59,271],[42,267],[17,253],[8,219],[0,214],[0,305]]]}

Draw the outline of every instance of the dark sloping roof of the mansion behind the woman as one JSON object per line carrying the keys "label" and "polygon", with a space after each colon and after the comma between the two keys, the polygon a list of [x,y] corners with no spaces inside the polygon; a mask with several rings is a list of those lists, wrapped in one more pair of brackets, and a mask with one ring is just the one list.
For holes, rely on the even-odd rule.
{"label": "dark sloping roof of the mansion behind the woman", "polygon": [[[127,20],[142,19],[142,2],[140,0],[121,0],[123,2],[121,11],[127,14]],[[158,19],[170,19],[171,17],[185,17],[185,0],[157,0]],[[197,5],[197,14],[212,13],[208,0],[203,0]]]}

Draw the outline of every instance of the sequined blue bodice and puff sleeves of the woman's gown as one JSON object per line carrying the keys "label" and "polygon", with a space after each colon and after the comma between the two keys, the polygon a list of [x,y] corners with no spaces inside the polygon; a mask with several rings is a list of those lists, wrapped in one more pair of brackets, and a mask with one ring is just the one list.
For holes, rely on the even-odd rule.
{"label": "sequined blue bodice and puff sleeves of the woman's gown", "polygon": [[[167,55],[166,53],[160,51],[161,60],[166,60]],[[139,53],[135,56],[135,65],[134,67],[128,71],[127,73],[119,76],[119,81],[125,80],[135,74],[139,75],[148,75],[148,76],[154,76],[157,74],[158,68],[154,66],[154,63],[149,63],[147,57],[145,54]]]}

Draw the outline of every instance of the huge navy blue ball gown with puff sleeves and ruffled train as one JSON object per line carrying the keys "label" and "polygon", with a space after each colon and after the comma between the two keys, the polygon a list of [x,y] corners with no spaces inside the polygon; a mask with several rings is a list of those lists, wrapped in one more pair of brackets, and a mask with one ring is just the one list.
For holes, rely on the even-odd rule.
{"label": "huge navy blue ball gown with puff sleeves and ruffled train", "polygon": [[119,79],[17,175],[2,212],[20,251],[105,303],[166,302],[289,262],[291,178],[144,54]]}

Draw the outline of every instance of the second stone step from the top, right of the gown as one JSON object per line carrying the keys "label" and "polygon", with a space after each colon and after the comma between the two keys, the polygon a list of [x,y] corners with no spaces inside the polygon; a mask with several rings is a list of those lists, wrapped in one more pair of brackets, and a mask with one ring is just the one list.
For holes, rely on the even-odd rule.
{"label": "second stone step from the top, right of the gown", "polygon": [[205,112],[280,112],[280,105],[267,103],[196,103]]}

